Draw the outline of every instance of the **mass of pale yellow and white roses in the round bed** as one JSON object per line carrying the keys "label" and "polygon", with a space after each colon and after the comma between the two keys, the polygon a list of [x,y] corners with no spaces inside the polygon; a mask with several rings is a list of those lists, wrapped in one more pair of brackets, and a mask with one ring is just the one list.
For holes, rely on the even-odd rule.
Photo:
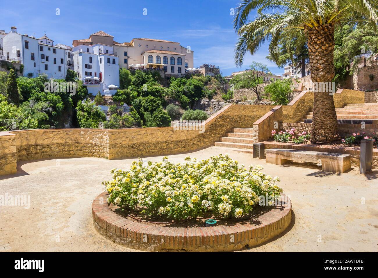
{"label": "mass of pale yellow and white roses in the round bed", "polygon": [[147,217],[188,219],[204,213],[215,217],[243,217],[251,213],[259,200],[280,197],[278,177],[261,172],[262,167],[244,165],[228,155],[218,155],[197,162],[190,157],[185,163],[132,163],[129,171],[113,169],[113,180],[103,184],[108,202],[139,211]]}

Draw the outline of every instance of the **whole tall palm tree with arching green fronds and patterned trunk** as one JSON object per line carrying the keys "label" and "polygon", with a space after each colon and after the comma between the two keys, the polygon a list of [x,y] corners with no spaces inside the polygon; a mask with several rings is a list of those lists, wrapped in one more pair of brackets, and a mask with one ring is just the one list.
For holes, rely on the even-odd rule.
{"label": "whole tall palm tree with arching green fronds and patterned trunk", "polygon": [[[248,21],[250,12],[255,9],[256,18]],[[298,46],[307,39],[311,80],[331,82],[335,76],[335,24],[351,22],[375,29],[377,9],[377,0],[243,0],[234,18],[234,29],[240,36],[235,48],[235,64],[241,66],[247,51],[253,55],[268,41],[270,54],[278,59],[279,53],[274,49],[284,33],[292,32],[299,34]],[[333,94],[314,92],[311,141],[322,144],[339,139]]]}

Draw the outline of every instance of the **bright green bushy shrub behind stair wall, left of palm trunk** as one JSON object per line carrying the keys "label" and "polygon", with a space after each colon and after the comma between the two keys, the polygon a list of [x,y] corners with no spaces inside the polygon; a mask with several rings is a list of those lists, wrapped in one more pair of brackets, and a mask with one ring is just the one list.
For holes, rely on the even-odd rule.
{"label": "bright green bushy shrub behind stair wall, left of palm trunk", "polygon": [[264,87],[264,93],[268,95],[271,101],[274,101],[274,104],[287,105],[293,95],[293,80],[278,79],[271,82]]}

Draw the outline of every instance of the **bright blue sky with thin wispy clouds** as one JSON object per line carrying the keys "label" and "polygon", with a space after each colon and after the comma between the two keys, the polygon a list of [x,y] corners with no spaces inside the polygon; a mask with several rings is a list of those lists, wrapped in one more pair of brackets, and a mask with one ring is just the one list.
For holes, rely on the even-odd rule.
{"label": "bright blue sky with thin wispy clouds", "polygon": [[[74,39],[86,39],[99,30],[114,36],[118,42],[146,37],[180,42],[194,51],[194,66],[218,65],[223,75],[244,70],[252,61],[263,62],[276,74],[282,74],[276,64],[265,59],[268,45],[251,56],[244,65],[235,67],[234,46],[237,35],[232,28],[230,9],[239,0],[108,0],[108,1],[3,1],[0,29],[42,37],[54,43],[72,45]],[[60,15],[56,15],[56,9]],[[143,9],[147,15],[143,15]],[[254,13],[252,14],[254,16]]]}

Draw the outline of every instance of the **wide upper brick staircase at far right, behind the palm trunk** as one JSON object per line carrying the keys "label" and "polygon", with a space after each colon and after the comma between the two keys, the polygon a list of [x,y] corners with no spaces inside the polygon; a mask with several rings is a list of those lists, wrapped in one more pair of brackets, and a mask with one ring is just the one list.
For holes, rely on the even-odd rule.
{"label": "wide upper brick staircase at far right, behind the palm trunk", "polygon": [[[303,122],[311,123],[312,114],[309,112]],[[344,108],[336,108],[336,115],[339,123],[361,123],[367,120],[375,124],[378,123],[378,103],[350,103]]]}

